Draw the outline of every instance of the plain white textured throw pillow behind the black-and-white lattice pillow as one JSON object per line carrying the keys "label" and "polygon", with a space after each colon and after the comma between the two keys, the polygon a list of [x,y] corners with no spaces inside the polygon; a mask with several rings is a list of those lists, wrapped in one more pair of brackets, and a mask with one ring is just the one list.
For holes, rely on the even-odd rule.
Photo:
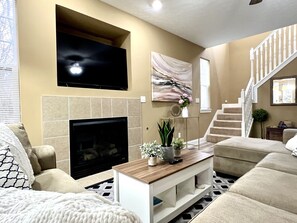
{"label": "plain white textured throw pillow behind the black-and-white lattice pillow", "polygon": [[[15,134],[3,123],[0,123],[0,146],[9,145],[9,149],[23,172],[28,176],[30,185],[35,178],[30,160]],[[1,148],[0,148],[1,150]]]}

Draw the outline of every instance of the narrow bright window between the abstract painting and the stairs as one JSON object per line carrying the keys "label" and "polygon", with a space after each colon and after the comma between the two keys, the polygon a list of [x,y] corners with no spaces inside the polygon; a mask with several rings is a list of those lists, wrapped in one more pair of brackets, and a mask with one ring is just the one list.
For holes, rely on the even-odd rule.
{"label": "narrow bright window between the abstract painting and the stairs", "polygon": [[210,63],[203,58],[200,58],[200,112],[211,112]]}

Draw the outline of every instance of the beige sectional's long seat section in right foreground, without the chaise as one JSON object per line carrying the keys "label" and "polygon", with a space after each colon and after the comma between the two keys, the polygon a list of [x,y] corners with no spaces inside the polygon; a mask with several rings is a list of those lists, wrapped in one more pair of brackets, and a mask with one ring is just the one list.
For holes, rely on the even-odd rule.
{"label": "beige sectional's long seat section in right foreground, without the chaise", "polygon": [[192,223],[297,222],[297,158],[270,153]]}

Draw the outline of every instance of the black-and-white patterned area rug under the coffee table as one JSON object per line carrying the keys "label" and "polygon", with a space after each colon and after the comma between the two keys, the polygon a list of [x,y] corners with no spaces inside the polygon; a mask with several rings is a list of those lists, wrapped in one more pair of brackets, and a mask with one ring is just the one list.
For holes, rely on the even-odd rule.
{"label": "black-and-white patterned area rug under the coffee table", "polygon": [[[183,213],[178,215],[176,218],[170,221],[170,223],[187,223],[194,216],[198,215],[203,211],[211,202],[213,202],[217,197],[226,192],[230,186],[236,181],[237,178],[216,174],[213,174],[213,196],[206,195],[190,208],[185,210]],[[90,191],[94,191],[103,197],[113,201],[113,179],[109,179],[92,186],[86,187]]]}

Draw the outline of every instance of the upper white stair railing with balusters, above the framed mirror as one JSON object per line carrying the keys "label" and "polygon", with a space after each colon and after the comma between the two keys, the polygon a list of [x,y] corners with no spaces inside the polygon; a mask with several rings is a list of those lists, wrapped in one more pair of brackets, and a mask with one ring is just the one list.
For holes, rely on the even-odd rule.
{"label": "upper white stair railing with balusters, above the framed mirror", "polygon": [[256,48],[250,51],[253,101],[257,102],[257,90],[297,57],[297,25],[273,31]]}

